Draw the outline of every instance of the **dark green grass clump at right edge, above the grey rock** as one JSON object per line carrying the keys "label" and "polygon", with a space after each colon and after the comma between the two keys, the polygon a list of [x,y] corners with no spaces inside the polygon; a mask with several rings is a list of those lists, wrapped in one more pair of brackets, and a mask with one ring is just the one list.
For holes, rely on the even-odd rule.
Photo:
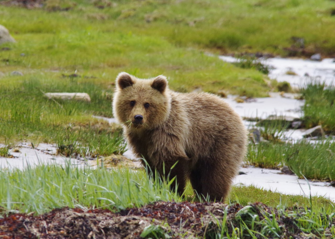
{"label": "dark green grass clump at right edge, above the grey rock", "polygon": [[335,132],[335,87],[310,82],[302,90],[306,128],[321,125],[326,132]]}

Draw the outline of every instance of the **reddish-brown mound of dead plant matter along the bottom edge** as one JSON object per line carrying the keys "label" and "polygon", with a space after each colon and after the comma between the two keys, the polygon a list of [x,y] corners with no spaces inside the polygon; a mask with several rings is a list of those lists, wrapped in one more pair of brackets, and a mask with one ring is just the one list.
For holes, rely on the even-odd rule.
{"label": "reddish-brown mound of dead plant matter along the bottom edge", "polygon": [[[222,222],[226,206],[222,203],[156,202],[118,213],[102,209],[62,208],[40,216],[12,214],[0,219],[0,238],[136,239],[142,238],[141,233],[150,225],[158,228],[163,235],[161,238],[215,238],[215,234],[221,231],[218,222]],[[242,208],[239,204],[227,208],[226,225],[230,235],[233,228],[241,227],[241,220],[248,223],[252,211],[258,215],[260,221],[267,213],[275,214],[281,228],[280,238],[317,238],[311,237],[313,234],[302,233],[296,225],[296,218],[278,216],[279,213],[274,208],[254,203],[248,206],[248,212],[241,213],[245,211],[245,208],[241,210]],[[256,230],[257,227],[262,225],[256,226]],[[147,234],[148,236],[154,237],[152,234]],[[246,234],[244,236],[248,238]],[[271,235],[267,236],[271,238]],[[272,235],[272,238],[273,236],[278,238],[275,235]]]}

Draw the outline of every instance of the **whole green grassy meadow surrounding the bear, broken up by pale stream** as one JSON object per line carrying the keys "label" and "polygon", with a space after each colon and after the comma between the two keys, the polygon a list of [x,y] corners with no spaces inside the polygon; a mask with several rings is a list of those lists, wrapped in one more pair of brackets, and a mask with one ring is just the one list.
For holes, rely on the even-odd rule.
{"label": "whole green grassy meadow surrounding the bear, broken up by pale stream", "polygon": [[[163,74],[170,88],[180,92],[263,97],[278,90],[267,69],[249,61],[225,63],[216,55],[335,56],[330,0],[47,0],[42,8],[32,9],[8,2],[0,0],[0,24],[16,43],[0,46],[0,157],[22,141],[56,144],[64,156],[123,153],[120,127],[92,117],[113,116],[114,80],[121,71],[140,78]],[[303,46],[297,38],[304,39]],[[48,99],[46,92],[86,92],[91,102]],[[333,133],[334,89],[311,84],[302,94],[305,126],[322,125]],[[277,123],[263,126],[268,142],[251,143],[246,163],[287,165],[301,178],[335,180],[334,143],[286,142],[281,138],[285,128]],[[118,211],[160,200],[199,200],[190,185],[181,197],[169,190],[171,183],[127,168],[93,170],[68,164],[0,169],[0,217],[61,207]],[[218,222],[220,231],[207,238],[279,238],[280,217],[294,219],[304,235],[335,237],[334,204],[323,197],[235,186],[225,201],[243,206],[253,202],[281,213],[264,213],[260,219],[247,207],[235,221]]]}

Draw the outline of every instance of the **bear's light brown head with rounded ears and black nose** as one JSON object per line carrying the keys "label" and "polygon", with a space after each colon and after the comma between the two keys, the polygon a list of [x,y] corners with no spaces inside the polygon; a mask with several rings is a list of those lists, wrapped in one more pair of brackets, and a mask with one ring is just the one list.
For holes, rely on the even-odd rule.
{"label": "bear's light brown head with rounded ears and black nose", "polygon": [[115,85],[113,114],[128,129],[154,129],[169,117],[171,93],[165,76],[144,80],[121,72]]}

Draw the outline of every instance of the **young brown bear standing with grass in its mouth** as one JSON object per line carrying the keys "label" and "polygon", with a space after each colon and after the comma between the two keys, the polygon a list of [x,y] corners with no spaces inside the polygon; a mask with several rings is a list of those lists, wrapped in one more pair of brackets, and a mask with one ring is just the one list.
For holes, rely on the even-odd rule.
{"label": "young brown bear standing with grass in its mouth", "polygon": [[247,132],[220,97],[174,92],[162,75],[144,80],[122,72],[116,78],[113,114],[133,152],[151,170],[163,176],[178,161],[170,178],[176,176],[179,193],[190,179],[198,195],[210,200],[227,196],[246,155]]}

